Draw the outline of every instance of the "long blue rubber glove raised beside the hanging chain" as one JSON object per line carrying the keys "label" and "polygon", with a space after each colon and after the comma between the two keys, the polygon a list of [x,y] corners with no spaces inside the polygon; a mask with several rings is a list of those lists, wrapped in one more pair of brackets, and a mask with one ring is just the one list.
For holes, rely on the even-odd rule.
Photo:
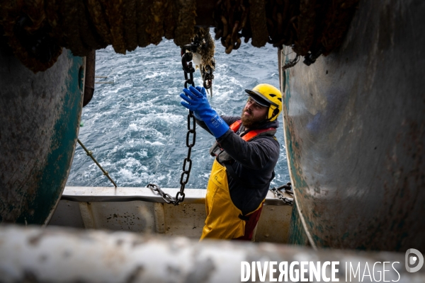
{"label": "long blue rubber glove raised beside the hanging chain", "polygon": [[180,97],[183,100],[180,103],[188,110],[195,112],[200,117],[199,120],[205,122],[205,125],[217,139],[227,132],[229,125],[211,108],[207,95],[206,93],[204,95],[204,93],[205,88],[201,88],[200,91],[193,86],[189,86],[188,89],[183,88],[183,93],[180,93]]}

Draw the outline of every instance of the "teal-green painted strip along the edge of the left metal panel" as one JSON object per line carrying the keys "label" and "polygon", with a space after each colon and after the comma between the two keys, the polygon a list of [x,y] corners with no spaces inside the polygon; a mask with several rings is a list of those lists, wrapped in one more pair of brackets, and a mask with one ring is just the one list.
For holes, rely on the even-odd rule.
{"label": "teal-green painted strip along the edge of the left metal panel", "polygon": [[50,142],[50,154],[47,163],[35,184],[38,192],[30,202],[29,209],[35,213],[30,214],[28,209],[22,211],[16,219],[17,223],[43,224],[56,207],[62,195],[64,185],[68,178],[69,169],[74,158],[75,141],[78,137],[79,121],[81,117],[81,91],[83,89],[83,58],[74,57],[67,53],[73,64],[67,71],[68,76],[64,86],[63,104],[60,115],[55,122],[54,132]]}

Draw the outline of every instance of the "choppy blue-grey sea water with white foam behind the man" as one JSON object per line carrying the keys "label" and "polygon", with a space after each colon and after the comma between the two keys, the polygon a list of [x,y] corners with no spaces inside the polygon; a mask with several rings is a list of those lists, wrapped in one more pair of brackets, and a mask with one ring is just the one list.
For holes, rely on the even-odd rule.
{"label": "choppy blue-grey sea water with white foam behind the man", "polygon": [[[258,83],[279,87],[277,49],[242,44],[225,54],[215,42],[215,79],[210,105],[220,115],[241,115],[246,103],[245,88]],[[93,152],[119,187],[180,187],[186,158],[188,110],[180,105],[184,86],[180,48],[172,40],[159,45],[116,54],[108,46],[96,51],[94,97],[83,108],[79,139]],[[202,85],[200,72],[194,74]],[[283,141],[282,115],[276,137],[280,156],[271,187],[290,181]],[[205,189],[213,158],[208,149],[215,139],[199,126],[193,147],[191,175],[186,187]],[[94,161],[77,144],[67,180],[69,186],[111,186]]]}

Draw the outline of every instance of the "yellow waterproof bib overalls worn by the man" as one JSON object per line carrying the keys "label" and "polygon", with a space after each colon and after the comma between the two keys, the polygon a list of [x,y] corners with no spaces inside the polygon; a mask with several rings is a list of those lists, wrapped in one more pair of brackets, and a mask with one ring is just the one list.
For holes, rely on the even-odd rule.
{"label": "yellow waterproof bib overalls worn by the man", "polygon": [[[257,209],[262,206],[262,202]],[[239,219],[241,210],[234,206],[229,193],[225,166],[217,160],[212,164],[207,195],[205,196],[207,219],[200,240],[204,238],[232,239],[244,236],[245,221]],[[251,214],[253,212],[250,212]],[[247,214],[247,215],[249,215]]]}

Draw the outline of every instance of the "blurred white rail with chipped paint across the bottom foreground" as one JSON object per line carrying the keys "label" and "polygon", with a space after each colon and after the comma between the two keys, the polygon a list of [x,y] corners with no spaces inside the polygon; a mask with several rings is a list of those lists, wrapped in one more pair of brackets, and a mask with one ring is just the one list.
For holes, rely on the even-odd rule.
{"label": "blurred white rail with chipped paint across the bottom foreground", "polygon": [[[294,261],[339,262],[339,282],[368,282],[373,276],[382,282],[382,262],[387,262],[385,282],[422,283],[425,279],[425,268],[407,272],[404,253],[312,250],[271,243],[198,242],[129,232],[0,226],[2,282],[231,283],[241,282],[242,261],[261,262],[262,267],[266,261],[276,261],[275,279],[280,262],[290,265]],[[348,275],[350,266],[353,271],[359,267],[355,277]],[[306,275],[308,278],[309,273]],[[326,275],[330,277],[330,266]],[[256,279],[260,281],[258,275]],[[269,279],[267,272],[265,282],[272,281]]]}

